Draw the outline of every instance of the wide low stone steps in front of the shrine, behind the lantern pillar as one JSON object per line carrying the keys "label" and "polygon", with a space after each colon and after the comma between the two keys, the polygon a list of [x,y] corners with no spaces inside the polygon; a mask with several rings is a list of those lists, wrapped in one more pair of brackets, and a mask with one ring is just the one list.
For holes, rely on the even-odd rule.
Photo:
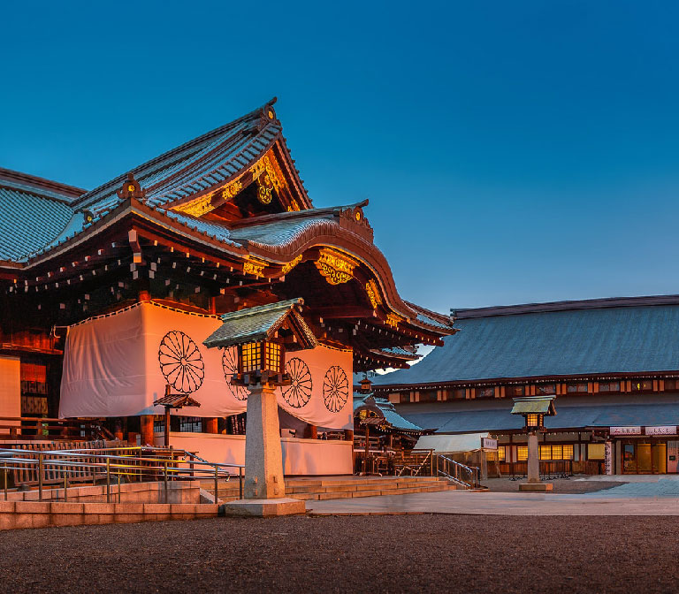
{"label": "wide low stone steps in front of the shrine, behind the lantern pillar", "polygon": [[[212,497],[214,481],[201,487]],[[219,481],[218,499],[222,503],[238,499],[238,480]],[[453,491],[456,487],[435,476],[312,476],[286,478],[286,497],[294,499],[350,499],[378,495],[406,495],[433,491]]]}

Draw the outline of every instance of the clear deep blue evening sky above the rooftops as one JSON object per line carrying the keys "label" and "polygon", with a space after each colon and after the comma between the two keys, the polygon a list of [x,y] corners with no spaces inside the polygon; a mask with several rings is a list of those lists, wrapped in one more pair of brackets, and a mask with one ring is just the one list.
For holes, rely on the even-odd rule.
{"label": "clear deep blue evening sky above the rooftops", "polygon": [[0,166],[95,187],[278,95],[317,206],[370,199],[447,312],[679,293],[679,4],[19,3]]}

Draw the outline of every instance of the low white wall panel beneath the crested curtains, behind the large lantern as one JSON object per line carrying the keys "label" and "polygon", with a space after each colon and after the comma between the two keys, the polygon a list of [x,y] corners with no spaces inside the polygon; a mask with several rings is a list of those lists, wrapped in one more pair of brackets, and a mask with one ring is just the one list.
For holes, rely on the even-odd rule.
{"label": "low white wall panel beneath the crested curtains, behind the large lantern", "polygon": [[[156,433],[155,441],[156,446],[163,446],[163,434]],[[244,435],[171,431],[170,444],[210,462],[245,464]],[[280,445],[286,475],[351,475],[354,472],[350,441],[281,438]]]}

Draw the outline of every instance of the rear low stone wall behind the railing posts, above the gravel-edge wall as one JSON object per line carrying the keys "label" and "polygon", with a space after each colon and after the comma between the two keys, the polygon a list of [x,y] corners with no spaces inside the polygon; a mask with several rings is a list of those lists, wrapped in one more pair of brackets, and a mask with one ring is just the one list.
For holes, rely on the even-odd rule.
{"label": "rear low stone wall behind the railing posts, above the gravel-edge wall", "polygon": [[[37,501],[38,491],[12,491],[8,501]],[[0,499],[3,499],[0,491]],[[120,503],[200,503],[200,481],[169,481],[167,489],[160,483],[129,483],[120,485]],[[64,489],[43,489],[42,501],[64,502]],[[106,485],[68,488],[69,503],[105,503]],[[111,503],[118,503],[118,484],[111,484]]]}

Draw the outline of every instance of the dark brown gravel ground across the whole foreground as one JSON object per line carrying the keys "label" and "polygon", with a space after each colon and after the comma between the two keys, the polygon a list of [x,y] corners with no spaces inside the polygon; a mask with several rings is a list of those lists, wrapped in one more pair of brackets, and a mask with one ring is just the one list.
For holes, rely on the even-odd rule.
{"label": "dark brown gravel ground across the whole foreground", "polygon": [[11,592],[676,592],[679,518],[394,515],[0,533]]}

